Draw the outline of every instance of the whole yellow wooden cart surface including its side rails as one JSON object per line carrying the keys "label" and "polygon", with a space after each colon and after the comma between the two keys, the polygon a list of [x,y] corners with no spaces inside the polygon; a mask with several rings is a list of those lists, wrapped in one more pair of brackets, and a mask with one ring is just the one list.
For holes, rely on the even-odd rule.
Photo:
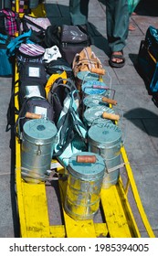
{"label": "whole yellow wooden cart surface including its side rails", "polygon": [[[18,1],[16,2],[18,12]],[[17,69],[15,80],[18,80]],[[17,91],[18,87],[15,88],[15,92]],[[15,105],[18,109],[17,96]],[[16,192],[22,238],[140,238],[141,231],[136,219],[142,221],[149,237],[155,237],[142,207],[124,146],[121,147],[121,158],[125,165],[122,168],[119,182],[108,189],[101,189],[100,210],[103,220],[96,223],[93,219],[74,220],[67,215],[63,208],[67,180],[55,181],[59,187],[56,202],[53,201],[55,190],[52,190],[52,195],[49,192],[47,199],[47,187],[50,187],[50,184],[26,183],[21,177],[20,150],[20,143],[16,138]],[[63,171],[63,167],[58,167],[58,174],[62,174]],[[58,204],[62,224],[50,225],[50,219],[56,215],[56,210],[51,210],[49,203]]]}

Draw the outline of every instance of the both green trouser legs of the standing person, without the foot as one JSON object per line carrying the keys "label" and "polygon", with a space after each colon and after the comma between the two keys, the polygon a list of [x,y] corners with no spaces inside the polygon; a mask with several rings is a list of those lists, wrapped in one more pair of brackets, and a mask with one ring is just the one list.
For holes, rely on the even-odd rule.
{"label": "both green trouser legs of the standing person, without the foot", "polygon": [[[90,0],[69,0],[69,13],[73,25],[88,22]],[[128,0],[105,0],[107,37],[111,52],[125,47],[129,31]]]}

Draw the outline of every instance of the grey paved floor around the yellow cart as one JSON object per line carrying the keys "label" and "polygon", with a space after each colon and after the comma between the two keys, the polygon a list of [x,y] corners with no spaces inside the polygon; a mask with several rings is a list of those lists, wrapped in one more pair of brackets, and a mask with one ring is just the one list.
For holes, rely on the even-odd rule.
{"label": "grey paved floor around the yellow cart", "polygon": [[[146,29],[158,27],[156,1],[142,1],[137,15],[131,17],[135,31],[129,33],[124,48],[126,65],[111,69],[108,64],[109,48],[106,39],[104,1],[90,1],[90,34],[92,46],[104,68],[111,75],[112,89],[124,112],[126,123],[125,148],[132,166],[133,175],[142,198],[147,217],[158,237],[158,108],[148,94],[144,81],[137,72],[137,55]],[[152,3],[153,2],[153,3]],[[68,0],[47,0],[47,16],[52,24],[69,24]],[[18,237],[16,193],[14,185],[14,161],[11,157],[10,133],[5,133],[6,109],[11,95],[11,78],[0,78],[0,237]],[[141,227],[142,237],[146,233]]]}

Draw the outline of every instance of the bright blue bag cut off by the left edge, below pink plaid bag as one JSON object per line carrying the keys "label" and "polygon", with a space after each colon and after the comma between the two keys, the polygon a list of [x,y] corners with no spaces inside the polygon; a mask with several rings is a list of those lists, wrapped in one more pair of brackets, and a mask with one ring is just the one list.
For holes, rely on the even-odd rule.
{"label": "bright blue bag cut off by the left edge, below pink plaid bag", "polygon": [[13,65],[10,58],[6,55],[6,48],[10,41],[8,35],[0,34],[0,76],[11,76],[13,74]]}

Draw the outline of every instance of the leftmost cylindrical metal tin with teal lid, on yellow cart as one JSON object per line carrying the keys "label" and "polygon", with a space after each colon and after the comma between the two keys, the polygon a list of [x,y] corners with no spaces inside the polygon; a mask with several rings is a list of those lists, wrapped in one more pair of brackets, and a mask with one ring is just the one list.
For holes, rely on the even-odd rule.
{"label": "leftmost cylindrical metal tin with teal lid, on yellow cart", "polygon": [[45,119],[27,121],[21,145],[22,177],[29,183],[45,180],[56,143],[57,128]]}

